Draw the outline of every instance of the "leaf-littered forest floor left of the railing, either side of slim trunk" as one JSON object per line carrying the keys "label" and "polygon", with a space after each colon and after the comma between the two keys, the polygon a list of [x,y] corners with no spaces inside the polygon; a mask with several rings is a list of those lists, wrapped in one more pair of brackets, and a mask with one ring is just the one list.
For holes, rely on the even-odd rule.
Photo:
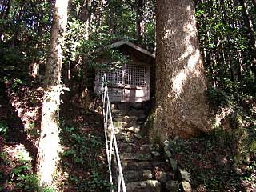
{"label": "leaf-littered forest floor left of the railing, either side of slim trunk", "polygon": [[[41,189],[36,156],[42,108],[42,83],[1,69],[0,191],[107,191],[102,114],[78,105],[76,90],[62,95],[60,112],[62,154],[54,188]],[[33,82],[32,82],[33,81]],[[55,190],[54,190],[55,189]],[[56,190],[58,189],[58,190]]]}

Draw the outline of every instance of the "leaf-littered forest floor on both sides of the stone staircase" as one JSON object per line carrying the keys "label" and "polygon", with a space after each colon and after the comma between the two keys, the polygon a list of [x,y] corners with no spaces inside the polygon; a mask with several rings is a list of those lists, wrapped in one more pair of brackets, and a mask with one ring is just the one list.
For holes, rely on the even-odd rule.
{"label": "leaf-littered forest floor on both sides of the stone staircase", "polygon": [[[40,190],[35,176],[42,105],[42,83],[26,74],[1,69],[0,191]],[[108,191],[110,182],[99,103],[78,106],[76,90],[62,96],[60,125],[63,152],[55,178],[58,191]],[[256,191],[256,162],[234,168],[232,146],[222,134],[171,142],[173,158],[190,173],[195,191]]]}

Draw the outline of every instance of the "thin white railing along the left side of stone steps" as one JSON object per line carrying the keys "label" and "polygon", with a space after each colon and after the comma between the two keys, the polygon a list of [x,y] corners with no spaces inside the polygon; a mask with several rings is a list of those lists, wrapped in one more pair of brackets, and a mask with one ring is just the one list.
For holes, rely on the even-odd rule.
{"label": "thin white railing along the left side of stone steps", "polygon": [[[110,172],[110,184],[114,186],[113,182],[113,173],[112,173],[112,161],[114,160],[113,157],[116,158],[118,163],[118,192],[126,192],[126,184],[122,173],[122,165],[120,160],[120,155],[118,152],[118,142],[115,137],[114,131],[114,123],[111,114],[111,107],[110,107],[110,97],[108,94],[108,87],[107,87],[107,79],[106,74],[102,77],[102,102],[103,102],[103,121],[104,121],[104,132],[105,132],[105,140],[106,140],[106,157],[108,162],[108,170]],[[110,136],[108,135],[107,131],[110,127]],[[114,192],[112,188],[110,192]]]}

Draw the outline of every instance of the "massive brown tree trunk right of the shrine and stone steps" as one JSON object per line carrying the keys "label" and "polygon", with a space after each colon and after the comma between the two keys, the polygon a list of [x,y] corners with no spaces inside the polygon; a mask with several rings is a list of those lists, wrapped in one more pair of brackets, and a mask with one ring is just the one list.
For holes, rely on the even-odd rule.
{"label": "massive brown tree trunk right of the shrine and stone steps", "polygon": [[193,0],[157,1],[154,134],[161,140],[210,130],[194,11]]}

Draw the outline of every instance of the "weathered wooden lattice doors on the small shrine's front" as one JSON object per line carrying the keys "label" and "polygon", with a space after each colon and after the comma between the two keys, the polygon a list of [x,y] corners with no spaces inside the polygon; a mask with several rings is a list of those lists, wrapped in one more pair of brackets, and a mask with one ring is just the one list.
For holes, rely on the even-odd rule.
{"label": "weathered wooden lattice doors on the small shrine's front", "polygon": [[[99,73],[102,77],[103,71]],[[144,102],[150,100],[149,66],[126,64],[106,73],[111,102]],[[101,80],[98,82],[101,85]],[[100,90],[100,87],[98,87]]]}

